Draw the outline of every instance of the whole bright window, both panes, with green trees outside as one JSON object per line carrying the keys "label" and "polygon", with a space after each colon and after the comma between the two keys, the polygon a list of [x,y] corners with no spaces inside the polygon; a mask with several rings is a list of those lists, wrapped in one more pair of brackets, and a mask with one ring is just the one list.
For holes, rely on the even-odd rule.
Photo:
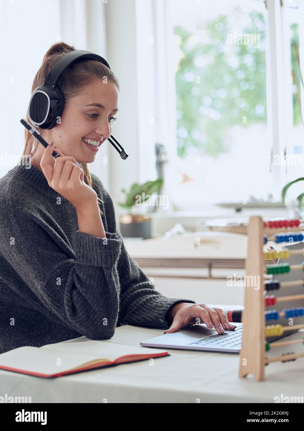
{"label": "whole bright window, both panes, with green trees outside", "polygon": [[[156,3],[159,18],[161,9]],[[300,6],[295,0],[287,2],[280,11],[282,22],[278,22],[274,7],[266,9],[264,1],[164,3],[161,25],[165,31],[158,25],[156,32],[166,52],[163,79],[168,101],[158,95],[157,105],[167,103],[162,128],[167,127],[170,136],[163,143],[169,156],[166,183],[171,203],[176,209],[204,209],[250,196],[267,200],[273,194],[279,198],[288,181],[285,167],[276,169],[271,157],[282,146],[271,129],[276,125],[270,122],[275,118],[279,123],[279,109],[284,119],[292,120],[293,127],[291,130],[284,124],[278,131],[285,154],[291,153],[292,142],[292,151],[302,152]],[[276,8],[279,4],[278,0]],[[268,31],[270,19],[276,20],[275,34],[282,33],[282,44]],[[284,63],[281,87],[279,78],[271,73],[278,69],[273,51]],[[164,59],[158,50],[156,64],[160,64],[158,55]],[[292,73],[296,83],[291,85],[287,79]],[[277,106],[272,97],[276,85],[285,98],[289,97],[289,104],[284,100]]]}

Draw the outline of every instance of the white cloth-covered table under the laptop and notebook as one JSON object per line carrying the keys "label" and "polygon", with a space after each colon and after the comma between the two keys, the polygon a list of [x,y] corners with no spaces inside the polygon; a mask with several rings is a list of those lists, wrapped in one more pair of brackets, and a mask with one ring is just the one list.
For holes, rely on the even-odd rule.
{"label": "white cloth-covered table under the laptop and notebook", "polygon": [[[125,325],[105,341],[139,347],[161,334]],[[257,382],[238,377],[235,353],[168,352],[171,356],[155,359],[153,366],[146,360],[52,379],[0,370],[0,395],[31,396],[32,403],[273,403],[280,394],[304,396],[304,359],[267,365],[266,380]]]}

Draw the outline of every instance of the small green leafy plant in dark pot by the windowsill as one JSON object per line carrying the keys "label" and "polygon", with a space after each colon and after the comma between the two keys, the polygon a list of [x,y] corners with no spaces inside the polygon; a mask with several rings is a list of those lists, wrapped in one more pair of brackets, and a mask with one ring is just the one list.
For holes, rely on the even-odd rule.
{"label": "small green leafy plant in dark pot by the windowsill", "polygon": [[[125,201],[119,202],[119,205],[126,211],[119,217],[123,237],[151,238],[151,217],[149,215],[153,209],[151,197],[153,193],[160,191],[162,183],[162,178],[158,178],[144,184],[132,184],[130,191],[121,190],[125,195]],[[150,211],[147,211],[147,208]]]}

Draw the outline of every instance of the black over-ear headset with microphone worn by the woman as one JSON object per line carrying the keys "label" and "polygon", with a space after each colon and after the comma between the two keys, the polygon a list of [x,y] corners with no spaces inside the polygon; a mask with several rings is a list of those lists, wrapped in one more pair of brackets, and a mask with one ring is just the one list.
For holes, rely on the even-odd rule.
{"label": "black over-ear headset with microphone worn by the woman", "polygon": [[[61,116],[64,107],[64,97],[57,83],[63,74],[74,61],[78,59],[93,59],[109,67],[109,63],[101,56],[90,51],[74,50],[62,56],[50,70],[42,85],[37,87],[31,95],[28,105],[28,118],[31,123],[42,129],[52,129],[57,124],[58,117]],[[121,148],[119,149],[116,144]],[[113,147],[118,151],[122,159],[127,159],[127,152],[119,144],[113,135],[108,138]]]}

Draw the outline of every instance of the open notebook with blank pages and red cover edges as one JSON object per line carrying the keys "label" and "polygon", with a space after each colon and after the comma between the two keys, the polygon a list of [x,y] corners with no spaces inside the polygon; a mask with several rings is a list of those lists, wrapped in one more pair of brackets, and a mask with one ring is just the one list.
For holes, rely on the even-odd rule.
{"label": "open notebook with blank pages and red cover edges", "polygon": [[0,354],[0,369],[39,377],[60,377],[161,356],[170,355],[165,350],[85,339],[9,350]]}

